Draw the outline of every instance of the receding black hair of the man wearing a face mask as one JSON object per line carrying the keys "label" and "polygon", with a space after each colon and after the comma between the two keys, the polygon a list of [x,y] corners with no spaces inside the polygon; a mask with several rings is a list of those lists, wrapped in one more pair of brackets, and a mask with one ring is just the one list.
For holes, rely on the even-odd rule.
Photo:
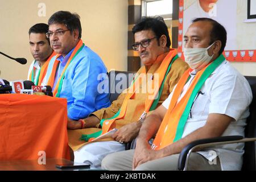
{"label": "receding black hair of the man wearing a face mask", "polygon": [[210,31],[209,45],[215,42],[216,40],[220,40],[221,48],[220,48],[220,51],[218,52],[218,55],[221,55],[221,53],[224,51],[224,48],[226,46],[226,29],[216,20],[213,20],[210,18],[195,18],[192,20],[192,23],[199,22],[199,21],[206,21],[206,22],[212,23],[212,30]]}

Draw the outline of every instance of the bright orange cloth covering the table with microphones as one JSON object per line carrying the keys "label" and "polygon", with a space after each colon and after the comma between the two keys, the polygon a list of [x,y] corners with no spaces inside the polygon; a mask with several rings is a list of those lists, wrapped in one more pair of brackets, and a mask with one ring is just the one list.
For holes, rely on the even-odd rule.
{"label": "bright orange cloth covering the table with microphones", "polygon": [[[70,159],[67,100],[0,94],[0,160]],[[43,152],[43,153],[44,153]]]}

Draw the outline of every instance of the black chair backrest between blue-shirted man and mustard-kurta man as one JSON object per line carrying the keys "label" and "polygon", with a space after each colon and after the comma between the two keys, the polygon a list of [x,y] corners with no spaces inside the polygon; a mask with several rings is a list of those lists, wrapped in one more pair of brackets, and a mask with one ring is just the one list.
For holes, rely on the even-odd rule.
{"label": "black chair backrest between blue-shirted man and mustard-kurta man", "polygon": [[113,102],[117,100],[119,94],[122,93],[124,89],[127,89],[136,72],[125,72],[125,71],[110,71],[108,74],[109,78],[109,100]]}

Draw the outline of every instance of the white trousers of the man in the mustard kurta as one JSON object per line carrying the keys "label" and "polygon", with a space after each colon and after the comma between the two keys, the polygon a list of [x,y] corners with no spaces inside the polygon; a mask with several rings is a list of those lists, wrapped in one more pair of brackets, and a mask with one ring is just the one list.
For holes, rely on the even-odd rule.
{"label": "white trousers of the man in the mustard kurta", "polygon": [[124,151],[125,144],[115,141],[102,141],[86,144],[74,151],[74,162],[88,163],[91,167],[100,168],[102,159],[113,152]]}

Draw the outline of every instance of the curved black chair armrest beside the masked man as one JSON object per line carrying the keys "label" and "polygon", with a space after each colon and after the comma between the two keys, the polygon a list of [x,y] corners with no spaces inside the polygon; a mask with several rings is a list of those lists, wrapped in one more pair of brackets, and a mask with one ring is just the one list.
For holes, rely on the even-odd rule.
{"label": "curved black chair armrest beside the masked man", "polygon": [[[180,156],[179,156],[179,160],[178,160],[178,169],[179,170],[187,169],[189,155],[195,149],[205,148],[205,147],[209,147],[209,146],[215,146],[218,144],[246,142],[242,139],[243,139],[242,136],[233,135],[233,136],[215,137],[215,138],[206,138],[206,139],[195,140],[194,142],[191,142],[187,146],[185,146],[183,148],[183,150],[180,152]],[[255,140],[256,140],[256,138],[255,138]]]}

